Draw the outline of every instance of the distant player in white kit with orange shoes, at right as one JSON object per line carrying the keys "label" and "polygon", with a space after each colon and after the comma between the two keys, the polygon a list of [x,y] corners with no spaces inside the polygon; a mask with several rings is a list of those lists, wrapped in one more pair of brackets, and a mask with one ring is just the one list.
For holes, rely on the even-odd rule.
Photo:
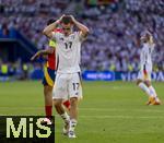
{"label": "distant player in white kit with orange shoes, at right", "polygon": [[147,105],[160,105],[161,102],[156,95],[154,87],[151,84],[152,73],[152,51],[154,49],[153,36],[150,32],[145,32],[141,36],[141,43],[143,45],[140,52],[140,71],[138,74],[137,85],[147,93],[149,102]]}

